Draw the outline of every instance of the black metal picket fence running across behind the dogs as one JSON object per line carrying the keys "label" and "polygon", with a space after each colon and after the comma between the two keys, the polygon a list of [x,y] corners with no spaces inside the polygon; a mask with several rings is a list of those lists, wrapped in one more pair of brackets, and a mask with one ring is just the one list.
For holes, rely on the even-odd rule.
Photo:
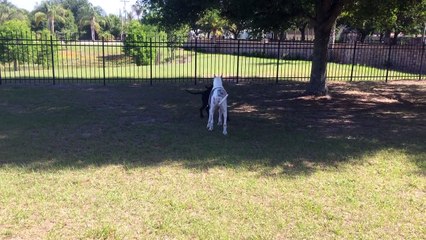
{"label": "black metal picket fence running across behind the dogs", "polygon": [[[64,41],[0,36],[0,84],[112,84],[225,80],[308,81],[312,42],[247,40]],[[336,43],[331,81],[422,80],[425,45]]]}

